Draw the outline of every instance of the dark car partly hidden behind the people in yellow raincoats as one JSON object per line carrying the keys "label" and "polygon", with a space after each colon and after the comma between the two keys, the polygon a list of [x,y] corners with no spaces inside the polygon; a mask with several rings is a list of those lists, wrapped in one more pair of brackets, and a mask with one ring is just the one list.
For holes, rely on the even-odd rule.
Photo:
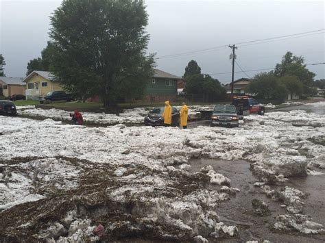
{"label": "dark car partly hidden behind the people in yellow raincoats", "polygon": [[[165,107],[155,107],[147,116],[145,116],[145,125],[147,126],[161,126],[164,125],[163,112]],[[180,112],[171,107],[171,126],[178,127],[180,125]]]}

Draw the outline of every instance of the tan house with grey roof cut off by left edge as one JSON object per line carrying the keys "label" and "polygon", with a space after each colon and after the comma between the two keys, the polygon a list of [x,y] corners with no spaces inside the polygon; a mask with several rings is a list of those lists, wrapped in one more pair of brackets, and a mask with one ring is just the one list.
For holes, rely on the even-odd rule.
{"label": "tan house with grey roof cut off by left edge", "polygon": [[9,97],[13,94],[25,94],[22,77],[0,77],[0,95]]}

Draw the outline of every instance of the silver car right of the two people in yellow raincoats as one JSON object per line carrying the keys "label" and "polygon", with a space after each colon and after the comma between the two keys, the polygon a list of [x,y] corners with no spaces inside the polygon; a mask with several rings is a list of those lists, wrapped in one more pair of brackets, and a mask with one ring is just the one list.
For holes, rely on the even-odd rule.
{"label": "silver car right of the two people in yellow raincoats", "polygon": [[239,116],[234,105],[215,105],[211,116],[211,127],[239,127]]}

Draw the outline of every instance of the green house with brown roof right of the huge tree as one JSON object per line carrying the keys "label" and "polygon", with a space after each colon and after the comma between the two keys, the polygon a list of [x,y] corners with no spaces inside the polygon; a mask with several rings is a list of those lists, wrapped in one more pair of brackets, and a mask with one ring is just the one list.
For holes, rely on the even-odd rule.
{"label": "green house with brown roof right of the huge tree", "polygon": [[176,75],[154,69],[154,77],[147,84],[145,99],[151,103],[163,102],[166,100],[176,101],[178,81],[182,79]]}

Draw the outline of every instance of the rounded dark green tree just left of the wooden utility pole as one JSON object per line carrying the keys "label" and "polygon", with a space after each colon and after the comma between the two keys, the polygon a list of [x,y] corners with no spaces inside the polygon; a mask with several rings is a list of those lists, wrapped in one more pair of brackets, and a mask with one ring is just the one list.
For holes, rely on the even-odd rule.
{"label": "rounded dark green tree just left of the wooden utility pole", "polygon": [[185,82],[184,91],[186,94],[202,95],[204,101],[219,101],[224,99],[226,95],[226,89],[210,75],[191,75],[185,78]]}

